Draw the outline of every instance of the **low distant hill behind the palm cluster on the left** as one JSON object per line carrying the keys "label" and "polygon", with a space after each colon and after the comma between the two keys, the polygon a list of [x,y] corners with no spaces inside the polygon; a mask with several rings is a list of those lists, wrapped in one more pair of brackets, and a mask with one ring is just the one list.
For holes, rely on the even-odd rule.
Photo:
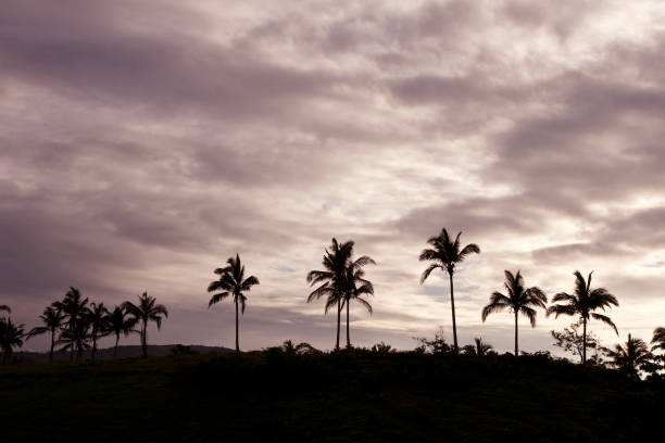
{"label": "low distant hill behind the palm cluster on the left", "polygon": [[[163,357],[166,355],[173,355],[172,350],[175,349],[177,344],[149,344],[148,345],[148,355],[153,357]],[[201,344],[191,344],[186,345],[189,351],[196,354],[228,354],[235,352],[231,349],[223,347],[223,346],[204,346]],[[117,357],[118,358],[129,358],[129,357],[140,357],[141,356],[141,346],[140,345],[123,345],[117,346]],[[90,358],[90,351],[84,352],[83,359]],[[105,359],[113,358],[113,347],[105,347],[97,350],[96,358]],[[14,359],[17,362],[48,362],[49,353],[48,352],[15,352]],[[65,362],[70,359],[70,352],[57,351],[53,353],[53,359],[57,362]]]}

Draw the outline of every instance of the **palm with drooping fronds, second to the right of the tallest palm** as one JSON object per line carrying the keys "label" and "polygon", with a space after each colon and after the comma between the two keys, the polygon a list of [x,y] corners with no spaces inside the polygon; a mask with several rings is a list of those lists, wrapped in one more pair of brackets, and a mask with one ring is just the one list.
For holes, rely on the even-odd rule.
{"label": "palm with drooping fronds, second to the right of the tallest palm", "polygon": [[610,325],[618,336],[616,325],[614,325],[610,317],[593,312],[599,308],[604,312],[605,307],[611,307],[611,305],[618,306],[618,301],[605,288],[591,290],[592,274],[593,271],[589,273],[589,278],[585,281],[585,277],[579,270],[573,273],[575,276],[575,293],[560,292],[554,295],[552,303],[563,303],[548,307],[547,313],[548,316],[554,314],[554,318],[557,318],[560,315],[580,316],[582,320],[582,364],[587,363],[587,321],[590,318]]}

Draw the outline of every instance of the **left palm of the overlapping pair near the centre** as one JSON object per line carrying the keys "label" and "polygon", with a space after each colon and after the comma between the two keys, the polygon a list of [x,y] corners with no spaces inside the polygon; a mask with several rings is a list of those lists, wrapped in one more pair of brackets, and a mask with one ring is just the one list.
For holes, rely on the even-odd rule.
{"label": "left palm of the overlapping pair near the centre", "polygon": [[335,341],[335,350],[339,351],[339,330],[341,324],[342,301],[347,292],[347,267],[353,254],[353,241],[339,243],[332,238],[330,248],[325,250],[323,256],[323,266],[325,270],[311,270],[308,273],[308,283],[311,287],[321,286],[308,295],[308,303],[326,296],[325,314],[328,309],[337,305],[337,340]]}

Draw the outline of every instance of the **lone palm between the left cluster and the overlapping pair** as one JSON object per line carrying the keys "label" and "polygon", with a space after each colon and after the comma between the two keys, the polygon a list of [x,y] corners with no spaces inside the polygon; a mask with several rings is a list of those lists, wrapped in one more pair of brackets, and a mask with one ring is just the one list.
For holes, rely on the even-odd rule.
{"label": "lone palm between the left cluster and the overlapping pair", "polygon": [[234,303],[236,304],[236,353],[240,354],[238,304],[240,304],[242,314],[244,314],[244,303],[247,302],[244,292],[249,292],[253,286],[260,283],[259,279],[254,276],[244,278],[244,265],[240,263],[240,255],[236,254],[235,258],[229,257],[226,263],[226,267],[215,269],[215,274],[219,276],[219,279],[211,281],[208,286],[208,292],[217,292],[210,299],[208,308],[228,295],[233,295]]}

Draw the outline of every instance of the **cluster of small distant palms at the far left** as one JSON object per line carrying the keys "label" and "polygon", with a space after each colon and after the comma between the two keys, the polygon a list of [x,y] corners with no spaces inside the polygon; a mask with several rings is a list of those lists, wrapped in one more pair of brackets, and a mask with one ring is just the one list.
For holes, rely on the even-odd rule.
{"label": "cluster of small distant palms at the far left", "polygon": [[[11,318],[0,318],[0,345],[3,352],[3,363],[12,355],[14,347],[23,345],[24,340],[36,336],[50,334],[49,360],[53,360],[57,346],[61,351],[70,352],[70,359],[77,360],[84,351],[90,351],[90,358],[95,362],[99,339],[108,336],[115,337],[114,356],[117,356],[117,346],[121,336],[139,333],[143,357],[148,355],[148,332],[150,321],[156,322],[158,329],[162,326],[163,317],[168,316],[164,305],[156,304],[153,296],[143,292],[138,303],[124,302],[113,311],[109,311],[103,303],[90,303],[83,298],[76,288],[70,288],[65,296],[51,303],[39,316],[42,326],[25,332],[24,325],[15,325]],[[9,306],[0,309],[11,313]]]}

